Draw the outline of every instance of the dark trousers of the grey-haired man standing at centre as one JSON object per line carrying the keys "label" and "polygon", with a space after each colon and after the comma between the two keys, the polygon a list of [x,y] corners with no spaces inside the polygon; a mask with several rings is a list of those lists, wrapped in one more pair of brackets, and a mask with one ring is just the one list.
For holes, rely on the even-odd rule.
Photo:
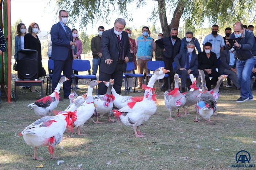
{"label": "dark trousers of the grey-haired man standing at centre", "polygon": [[[109,66],[113,67],[113,66]],[[123,71],[122,64],[117,64],[115,71],[112,74],[107,74],[105,72],[99,71],[99,80],[109,82],[110,79],[114,79],[113,88],[118,94],[121,94],[121,87],[123,84]],[[104,83],[99,83],[99,95],[104,95],[107,92],[107,86]]]}

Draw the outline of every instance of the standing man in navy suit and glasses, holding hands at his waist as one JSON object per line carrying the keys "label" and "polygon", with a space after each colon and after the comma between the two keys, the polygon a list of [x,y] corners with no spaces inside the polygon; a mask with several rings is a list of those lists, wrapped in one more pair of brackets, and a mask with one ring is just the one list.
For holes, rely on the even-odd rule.
{"label": "standing man in navy suit and glasses, holding hands at his waist", "polygon": [[72,41],[71,29],[66,26],[68,21],[68,13],[65,10],[59,12],[60,21],[57,24],[52,25],[51,28],[51,40],[52,40],[52,59],[54,60],[54,71],[52,75],[52,91],[55,90],[61,72],[66,76],[68,81],[63,83],[64,98],[68,99],[70,95],[71,87],[71,75],[72,75],[72,45],[75,43]]}

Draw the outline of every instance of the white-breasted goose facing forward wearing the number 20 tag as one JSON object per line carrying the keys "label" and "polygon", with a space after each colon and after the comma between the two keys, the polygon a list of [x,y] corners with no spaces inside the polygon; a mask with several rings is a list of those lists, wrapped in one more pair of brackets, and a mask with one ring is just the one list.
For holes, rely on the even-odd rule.
{"label": "white-breasted goose facing forward wearing the number 20 tag", "polygon": [[175,111],[178,109],[178,112],[176,114],[176,117],[183,117],[180,113],[180,108],[183,107],[183,105],[186,103],[186,98],[184,95],[182,95],[179,91],[179,75],[174,74],[174,82],[175,82],[175,88],[168,92],[166,91],[164,93],[165,95],[165,107],[170,112],[170,117],[166,120],[175,120],[172,118],[172,111]]}

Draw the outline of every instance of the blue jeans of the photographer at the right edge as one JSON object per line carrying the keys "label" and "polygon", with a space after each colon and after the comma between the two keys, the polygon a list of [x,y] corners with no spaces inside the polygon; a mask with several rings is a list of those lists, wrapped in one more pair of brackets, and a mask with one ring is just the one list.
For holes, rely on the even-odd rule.
{"label": "blue jeans of the photographer at the right edge", "polygon": [[244,61],[237,59],[236,61],[237,78],[241,86],[240,96],[245,99],[253,98],[250,82],[251,72],[255,62],[256,57],[252,57]]}

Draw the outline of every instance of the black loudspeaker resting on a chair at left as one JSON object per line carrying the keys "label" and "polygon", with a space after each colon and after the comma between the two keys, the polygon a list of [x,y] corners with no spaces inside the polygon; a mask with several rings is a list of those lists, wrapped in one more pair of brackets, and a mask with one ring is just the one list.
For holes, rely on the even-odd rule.
{"label": "black loudspeaker resting on a chair at left", "polygon": [[37,79],[38,78],[38,51],[19,50],[17,53],[18,78]]}

